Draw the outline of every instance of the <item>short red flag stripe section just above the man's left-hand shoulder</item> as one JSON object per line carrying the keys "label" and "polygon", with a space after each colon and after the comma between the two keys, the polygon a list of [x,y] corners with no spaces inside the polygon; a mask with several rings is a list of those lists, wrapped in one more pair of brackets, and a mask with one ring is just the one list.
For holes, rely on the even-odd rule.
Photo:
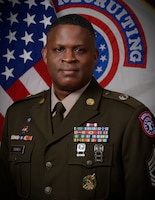
{"label": "short red flag stripe section just above the man's left-hand shoulder", "polygon": [[7,89],[6,92],[13,101],[25,98],[30,94],[20,80],[17,80],[14,84],[12,84],[12,86]]}

